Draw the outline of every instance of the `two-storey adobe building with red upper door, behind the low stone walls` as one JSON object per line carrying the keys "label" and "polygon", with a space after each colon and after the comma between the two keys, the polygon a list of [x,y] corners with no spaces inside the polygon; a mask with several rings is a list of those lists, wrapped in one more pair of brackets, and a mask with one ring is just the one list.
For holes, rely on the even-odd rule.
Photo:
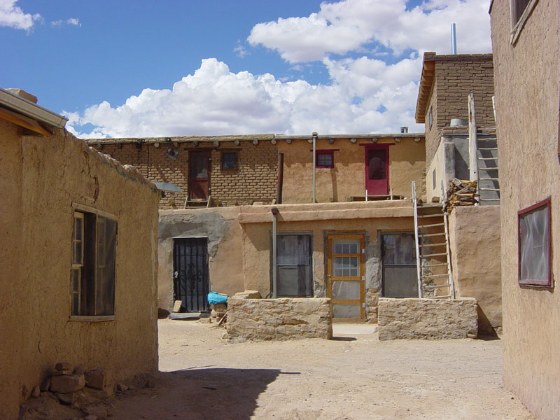
{"label": "two-storey adobe building with red upper door, behind the low stone walls", "polygon": [[209,291],[272,295],[274,223],[276,296],[332,297],[335,318],[375,321],[381,293],[417,295],[410,199],[412,181],[425,195],[423,134],[139,140],[88,143],[114,158],[131,153],[153,181],[182,190],[160,210],[162,309],[181,300],[207,311]]}

